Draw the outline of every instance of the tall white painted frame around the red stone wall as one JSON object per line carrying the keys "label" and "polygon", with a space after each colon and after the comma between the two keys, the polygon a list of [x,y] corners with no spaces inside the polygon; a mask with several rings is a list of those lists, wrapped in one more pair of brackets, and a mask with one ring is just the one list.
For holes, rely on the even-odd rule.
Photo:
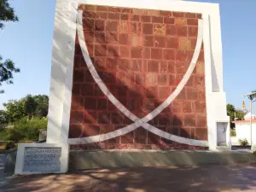
{"label": "tall white painted frame around the red stone wall", "polygon": [[[158,0],[57,0],[52,72],[49,96],[47,143],[67,143],[73,79],[76,15],[79,3],[201,13],[204,23],[207,126],[209,148],[216,149],[216,118],[213,95],[223,92],[222,45],[218,4]],[[61,70],[60,70],[61,69]],[[214,69],[214,70],[212,70]],[[60,74],[61,73],[61,74]],[[220,96],[222,102],[225,97]],[[225,111],[223,106],[219,110]],[[225,117],[222,119],[226,119]],[[224,116],[223,115],[223,116]]]}

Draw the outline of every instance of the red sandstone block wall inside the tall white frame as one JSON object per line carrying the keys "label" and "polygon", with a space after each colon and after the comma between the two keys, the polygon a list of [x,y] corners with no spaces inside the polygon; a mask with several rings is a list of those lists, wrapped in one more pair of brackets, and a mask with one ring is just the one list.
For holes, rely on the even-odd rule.
{"label": "red sandstone block wall inside the tall white frame", "polygon": [[[195,49],[199,14],[106,6],[80,6],[90,57],[103,82],[142,118],[176,89]],[[207,140],[203,48],[181,93],[149,124],[180,137]],[[69,137],[89,137],[130,125],[104,96],[86,67],[76,39]],[[194,148],[142,127],[83,148]]]}

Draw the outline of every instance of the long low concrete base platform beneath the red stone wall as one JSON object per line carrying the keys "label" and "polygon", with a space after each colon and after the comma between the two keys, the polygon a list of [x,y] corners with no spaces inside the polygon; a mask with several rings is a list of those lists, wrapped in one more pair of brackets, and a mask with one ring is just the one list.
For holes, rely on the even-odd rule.
{"label": "long low concrete base platform beneath the red stone wall", "polygon": [[199,166],[256,163],[251,151],[72,150],[69,170],[102,167]]}

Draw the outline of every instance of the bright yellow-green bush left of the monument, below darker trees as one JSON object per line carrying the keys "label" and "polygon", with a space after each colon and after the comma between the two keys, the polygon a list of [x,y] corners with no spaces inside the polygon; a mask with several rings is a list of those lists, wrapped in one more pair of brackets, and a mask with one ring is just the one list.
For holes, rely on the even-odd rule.
{"label": "bright yellow-green bush left of the monument, below darker trees", "polygon": [[47,119],[27,119],[23,118],[15,122],[13,128],[5,130],[4,140],[14,141],[37,141],[39,130],[47,129]]}

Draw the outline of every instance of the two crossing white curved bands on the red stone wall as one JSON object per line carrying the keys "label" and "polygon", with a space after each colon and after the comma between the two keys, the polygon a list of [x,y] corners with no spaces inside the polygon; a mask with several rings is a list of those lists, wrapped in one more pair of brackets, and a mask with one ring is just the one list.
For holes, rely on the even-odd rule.
{"label": "two crossing white curved bands on the red stone wall", "polygon": [[84,32],[83,32],[83,23],[82,23],[82,11],[78,12],[78,20],[77,20],[77,31],[79,36],[79,44],[82,49],[84,60],[86,62],[87,67],[90,70],[90,73],[93,77],[93,79],[96,81],[96,84],[100,87],[102,92],[108,97],[108,99],[113,103],[113,105],[116,108],[119,108],[119,110],[124,113],[129,119],[134,121],[131,125],[127,125],[117,131],[111,131],[105,134],[92,136],[92,137],[82,137],[82,138],[69,138],[68,143],[70,144],[80,144],[80,143],[96,143],[96,142],[102,142],[108,139],[111,139],[113,137],[119,137],[122,135],[125,135],[126,133],[133,131],[137,129],[139,126],[142,126],[144,129],[153,132],[154,134],[164,137],[166,139],[172,140],[177,143],[184,143],[189,145],[196,145],[196,146],[203,146],[207,147],[208,142],[202,141],[202,140],[195,140],[195,139],[189,139],[184,137],[178,137],[175,135],[172,135],[166,131],[161,131],[160,129],[154,127],[153,125],[149,125],[147,122],[151,119],[153,119],[156,115],[161,113],[168,105],[171,104],[171,102],[176,98],[176,96],[180,93],[181,90],[183,90],[184,85],[188,82],[191,74],[193,73],[193,70],[195,68],[196,61],[198,59],[198,56],[200,54],[201,50],[201,44],[202,44],[202,20],[198,20],[198,35],[197,35],[197,41],[195,45],[195,52],[192,57],[192,60],[190,62],[189,68],[185,75],[183,76],[183,79],[181,82],[177,85],[176,90],[172,92],[170,96],[166,99],[165,102],[163,102],[158,108],[155,108],[154,111],[151,113],[148,113],[143,119],[139,119],[134,113],[131,113],[125,106],[120,103],[115,96],[108,90],[108,87],[102,82],[102,79],[96,72],[96,68],[94,67],[92,61],[90,60],[90,55],[88,53],[87,46],[85,44],[84,40]]}

